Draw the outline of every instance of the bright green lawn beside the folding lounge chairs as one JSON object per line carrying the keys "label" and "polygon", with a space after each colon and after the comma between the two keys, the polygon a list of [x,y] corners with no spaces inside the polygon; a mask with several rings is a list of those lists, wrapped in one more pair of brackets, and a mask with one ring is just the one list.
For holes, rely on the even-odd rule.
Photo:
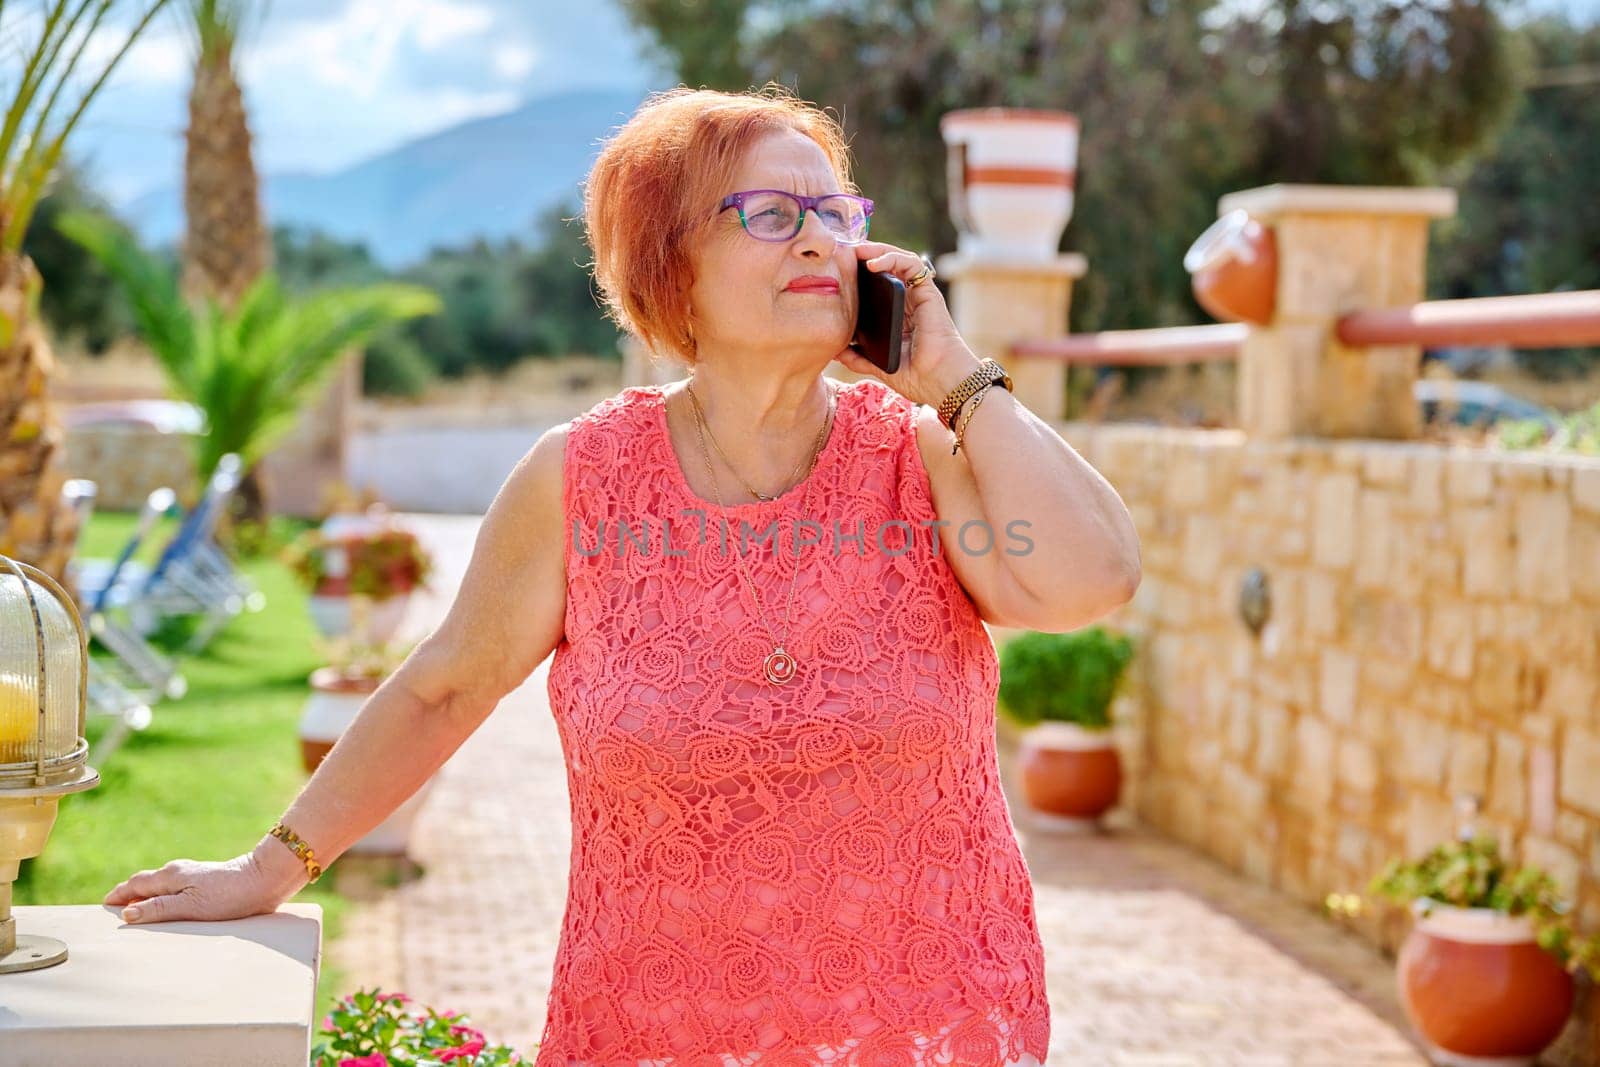
{"label": "bright green lawn beside the folding lounge chairs", "polygon": [[[277,536],[304,526],[277,520]],[[96,514],[80,555],[110,557],[133,530],[130,514]],[[174,523],[149,541],[152,558]],[[229,859],[251,849],[306,782],[298,723],[306,678],[318,665],[306,595],[272,557],[245,571],[267,606],[229,622],[200,657],[182,661],[189,693],[155,707],[155,718],[130,734],[104,766],[101,782],[66,797],[43,856],[22,862],[18,904],[99,904],[106,893],[170,859]],[[90,718],[91,741],[99,723]],[[307,886],[296,901],[323,909],[323,945],[339,936],[346,899],[333,878]],[[323,957],[317,985],[320,1022],[333,1000],[352,992]]]}

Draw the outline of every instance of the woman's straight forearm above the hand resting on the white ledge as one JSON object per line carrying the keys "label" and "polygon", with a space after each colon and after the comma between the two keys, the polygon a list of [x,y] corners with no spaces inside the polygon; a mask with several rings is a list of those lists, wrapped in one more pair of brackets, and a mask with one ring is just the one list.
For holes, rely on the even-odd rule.
{"label": "woman's straight forearm above the hand resting on the white ledge", "polygon": [[[467,712],[461,701],[419,696],[406,677],[413,661],[414,653],[366,697],[283,814],[323,867],[421,789],[483,721],[483,713]],[[309,881],[306,865],[270,835],[258,841],[254,859],[285,897]]]}

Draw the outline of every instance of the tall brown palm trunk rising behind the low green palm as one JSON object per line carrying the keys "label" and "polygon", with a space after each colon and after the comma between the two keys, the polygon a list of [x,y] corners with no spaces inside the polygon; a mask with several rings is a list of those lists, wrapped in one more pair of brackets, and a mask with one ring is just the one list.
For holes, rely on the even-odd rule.
{"label": "tall brown palm trunk rising behind the low green palm", "polygon": [[234,74],[246,24],[264,11],[253,0],[186,0],[195,75],[184,147],[184,296],[232,307],[272,269],[272,235],[250,149],[250,120]]}

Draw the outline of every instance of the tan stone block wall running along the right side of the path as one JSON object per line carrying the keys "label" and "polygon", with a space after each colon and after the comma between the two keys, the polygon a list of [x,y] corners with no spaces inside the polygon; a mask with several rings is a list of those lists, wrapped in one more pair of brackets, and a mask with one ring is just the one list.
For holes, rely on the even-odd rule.
{"label": "tan stone block wall running along the right side of the path", "polygon": [[[1144,582],[1107,619],[1139,637],[1118,733],[1141,819],[1318,904],[1477,793],[1600,931],[1600,459],[1062,434],[1141,533]],[[1397,920],[1355,921],[1394,947]]]}

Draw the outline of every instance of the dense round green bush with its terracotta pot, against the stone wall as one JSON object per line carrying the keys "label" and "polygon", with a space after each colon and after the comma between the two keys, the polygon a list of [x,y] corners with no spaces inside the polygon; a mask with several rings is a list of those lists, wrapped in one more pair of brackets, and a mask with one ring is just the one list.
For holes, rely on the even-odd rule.
{"label": "dense round green bush with its terracotta pot, against the stone wall", "polygon": [[1024,728],[1018,763],[1037,824],[1093,830],[1115,806],[1110,705],[1131,659],[1133,640],[1101,625],[1021,633],[1000,651],[1000,710]]}

